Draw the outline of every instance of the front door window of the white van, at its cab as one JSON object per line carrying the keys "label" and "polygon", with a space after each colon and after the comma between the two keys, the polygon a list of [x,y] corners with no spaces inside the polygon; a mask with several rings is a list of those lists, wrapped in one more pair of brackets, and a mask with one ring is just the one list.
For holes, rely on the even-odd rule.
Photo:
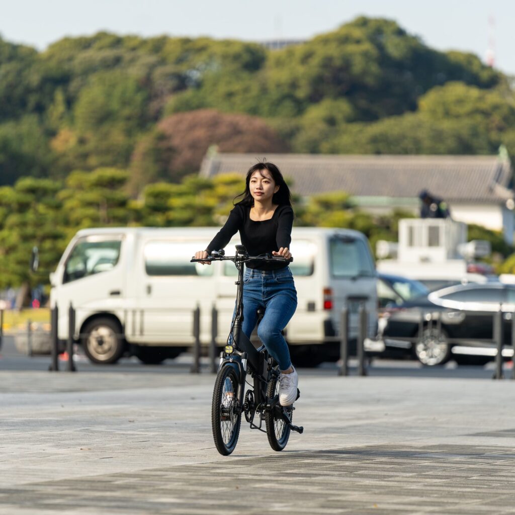
{"label": "front door window of the white van, at its cab", "polygon": [[66,260],[63,283],[111,270],[118,263],[121,245],[119,239],[79,241]]}

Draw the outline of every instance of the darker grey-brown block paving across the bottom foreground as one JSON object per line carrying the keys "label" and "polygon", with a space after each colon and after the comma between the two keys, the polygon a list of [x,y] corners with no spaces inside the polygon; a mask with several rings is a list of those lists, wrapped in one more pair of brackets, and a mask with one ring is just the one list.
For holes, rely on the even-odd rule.
{"label": "darker grey-brown block paving across the bottom foreground", "polygon": [[[149,469],[141,472],[104,474],[68,479],[60,482],[27,484],[19,488],[0,489],[0,510],[9,506],[44,513],[81,513],[95,508],[97,513],[241,513],[242,500],[248,513],[462,513],[494,515],[515,513],[513,475],[496,475],[495,463],[513,449],[454,448],[453,456],[474,458],[475,464],[463,468],[460,458],[445,458],[449,468],[437,472],[435,484],[424,465],[405,483],[406,469],[413,469],[406,455],[420,456],[420,450],[399,452],[393,445],[337,449],[331,452],[290,453],[244,458],[228,464]],[[391,456],[389,470],[377,473],[373,456]],[[441,453],[425,456],[441,463]],[[361,455],[358,470],[356,460]],[[277,457],[276,457],[277,456]],[[320,456],[327,456],[330,465]],[[396,456],[400,462],[396,463]],[[312,458],[314,457],[314,458]],[[372,457],[370,461],[367,457]],[[482,465],[483,464],[483,465]],[[432,465],[427,461],[427,466]],[[488,469],[486,471],[485,469]],[[331,470],[332,469],[332,470]],[[332,473],[330,473],[331,471]],[[482,471],[482,475],[475,475]],[[285,476],[288,472],[289,476]],[[244,476],[239,474],[244,473]],[[350,474],[350,475],[349,475]],[[493,474],[493,475],[492,475]],[[227,479],[224,479],[224,478]],[[234,479],[237,478],[237,479]],[[391,481],[395,482],[393,486]],[[285,488],[289,492],[285,497]],[[322,491],[324,495],[314,495]],[[263,506],[263,492],[270,499]],[[242,497],[243,495],[243,497]],[[216,499],[216,507],[213,500]],[[259,506],[254,511],[254,507]],[[70,511],[72,510],[72,511]],[[1,512],[1,511],[0,511]]]}

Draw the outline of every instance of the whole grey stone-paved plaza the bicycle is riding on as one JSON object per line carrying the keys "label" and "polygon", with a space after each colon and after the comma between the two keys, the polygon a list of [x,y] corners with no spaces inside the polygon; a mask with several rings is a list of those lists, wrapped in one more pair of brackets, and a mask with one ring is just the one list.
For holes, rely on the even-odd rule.
{"label": "whole grey stone-paved plaza the bicycle is riding on", "polygon": [[211,436],[214,376],[0,372],[0,513],[515,513],[515,382],[300,374],[286,450]]}

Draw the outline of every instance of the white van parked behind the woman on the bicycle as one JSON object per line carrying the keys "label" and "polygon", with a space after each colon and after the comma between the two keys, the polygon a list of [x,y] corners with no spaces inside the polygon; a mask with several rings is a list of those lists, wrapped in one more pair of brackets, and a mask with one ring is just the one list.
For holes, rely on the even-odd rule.
{"label": "white van parked behind the woman on the bicycle", "polygon": [[[218,310],[217,344],[227,339],[234,308],[236,268],[190,263],[218,229],[104,228],[79,231],[50,274],[50,305],[58,306],[60,339],[68,335],[68,308],[76,310],[74,339],[95,363],[124,353],[145,363],[174,357],[194,342],[193,312],[200,306],[200,339],[211,341]],[[236,235],[226,247],[234,253]],[[298,308],[285,330],[294,361],[338,356],[341,309],[348,305],[356,338],[359,302],[366,302],[369,335],[376,331],[376,272],[366,237],[346,229],[294,228],[290,268]],[[366,299],[366,300],[365,300]],[[322,345],[324,344],[324,345]],[[316,346],[316,347],[315,347]],[[314,352],[316,351],[316,352]]]}

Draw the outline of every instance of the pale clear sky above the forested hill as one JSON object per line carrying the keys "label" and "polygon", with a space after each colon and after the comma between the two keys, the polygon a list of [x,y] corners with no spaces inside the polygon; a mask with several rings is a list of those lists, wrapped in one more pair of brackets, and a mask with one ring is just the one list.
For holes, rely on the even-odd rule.
{"label": "pale clear sky above the forested hill", "polygon": [[99,30],[143,37],[210,36],[245,41],[310,39],[358,15],[396,20],[439,50],[486,59],[515,75],[512,0],[16,0],[2,2],[0,35],[39,50]]}

